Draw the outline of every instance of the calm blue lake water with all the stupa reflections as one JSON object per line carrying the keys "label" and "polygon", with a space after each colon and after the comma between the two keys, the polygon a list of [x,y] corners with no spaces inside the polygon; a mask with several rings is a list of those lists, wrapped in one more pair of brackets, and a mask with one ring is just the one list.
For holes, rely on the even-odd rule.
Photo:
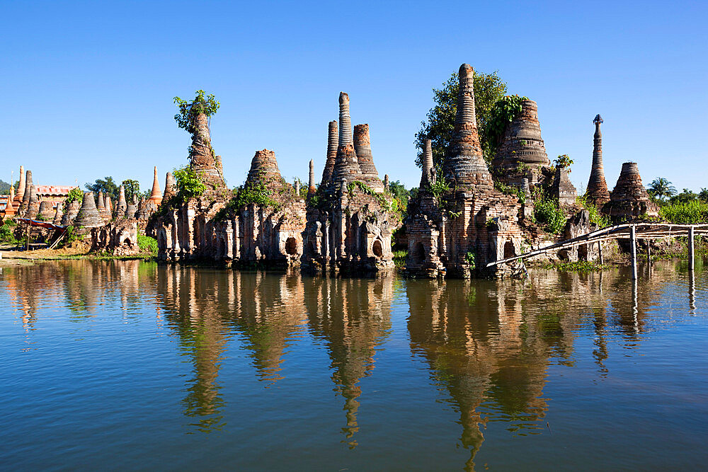
{"label": "calm blue lake water with all the stupa reflections", "polygon": [[707,272],[4,267],[0,468],[703,468]]}

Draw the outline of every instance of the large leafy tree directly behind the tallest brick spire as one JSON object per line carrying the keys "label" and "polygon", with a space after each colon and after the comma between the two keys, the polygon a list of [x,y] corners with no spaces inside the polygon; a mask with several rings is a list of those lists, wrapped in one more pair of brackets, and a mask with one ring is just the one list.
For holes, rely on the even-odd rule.
{"label": "large leafy tree directly behind the tallest brick spire", "polygon": [[[452,132],[455,128],[455,113],[457,113],[457,92],[459,79],[457,72],[450,76],[442,88],[433,88],[435,106],[428,111],[428,120],[421,122],[421,129],[416,134],[416,147],[420,149],[416,165],[423,167],[423,145],[426,139],[432,140],[433,163],[437,168],[442,166],[445,151],[452,142]],[[493,144],[487,136],[487,122],[495,103],[506,95],[506,82],[502,81],[497,71],[483,74],[474,71],[474,105],[477,118],[479,140],[484,151],[484,159],[491,161]]]}

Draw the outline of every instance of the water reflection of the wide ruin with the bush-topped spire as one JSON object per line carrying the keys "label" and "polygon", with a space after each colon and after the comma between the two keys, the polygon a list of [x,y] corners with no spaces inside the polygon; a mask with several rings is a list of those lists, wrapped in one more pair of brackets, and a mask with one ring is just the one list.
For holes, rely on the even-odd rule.
{"label": "water reflection of the wide ruin with the bush-topped spire", "polygon": [[167,267],[159,272],[158,293],[164,297],[165,318],[193,358],[185,415],[200,418],[203,431],[223,426],[217,379],[227,336],[233,330],[244,336],[258,377],[272,383],[282,378],[287,339],[306,322],[299,275]]}

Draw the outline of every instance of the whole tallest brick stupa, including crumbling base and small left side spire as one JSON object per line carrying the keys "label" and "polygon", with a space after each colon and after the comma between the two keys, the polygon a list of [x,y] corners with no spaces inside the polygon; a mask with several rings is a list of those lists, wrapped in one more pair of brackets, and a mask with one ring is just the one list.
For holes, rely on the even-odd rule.
{"label": "whole tallest brick stupa, including crumbling base and small left side spire", "polygon": [[433,192],[429,185],[432,156],[423,159],[428,163],[423,167],[423,186],[418,197],[409,202],[406,219],[409,275],[469,277],[473,272],[484,272],[486,263],[522,252],[518,197],[494,189],[482,156],[473,81],[472,67],[462,64],[455,130],[443,163],[449,190]]}

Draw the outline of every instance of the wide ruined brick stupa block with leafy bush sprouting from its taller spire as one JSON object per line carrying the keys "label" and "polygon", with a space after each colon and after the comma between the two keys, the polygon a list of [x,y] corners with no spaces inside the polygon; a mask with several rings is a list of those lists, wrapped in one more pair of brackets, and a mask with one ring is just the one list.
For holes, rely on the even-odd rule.
{"label": "wide ruined brick stupa block with leafy bush sprouting from its taller spire", "polygon": [[184,197],[168,173],[165,195],[147,232],[158,241],[158,258],[290,265],[302,255],[304,199],[285,183],[275,153],[256,152],[244,186],[229,190],[222,163],[211,147],[208,122],[195,117],[190,169],[205,184],[196,197]]}

